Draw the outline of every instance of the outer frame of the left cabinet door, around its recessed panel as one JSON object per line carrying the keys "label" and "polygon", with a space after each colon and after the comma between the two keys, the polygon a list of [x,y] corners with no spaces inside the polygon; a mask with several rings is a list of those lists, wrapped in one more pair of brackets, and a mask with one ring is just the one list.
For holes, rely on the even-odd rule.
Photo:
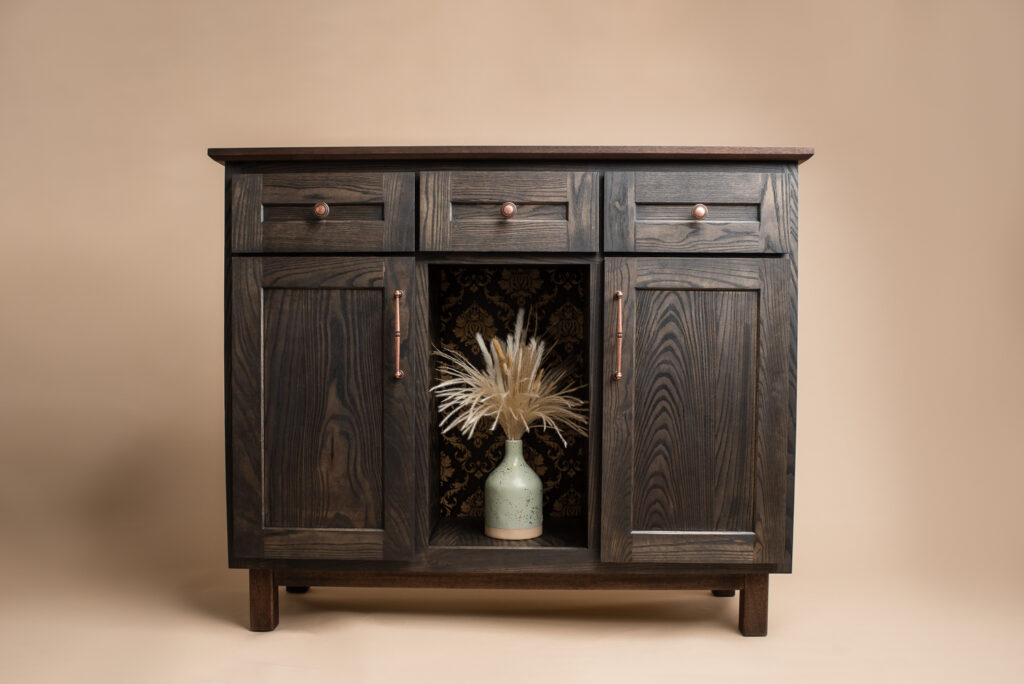
{"label": "outer frame of the left cabinet door, around its recessed panel", "polygon": [[[259,257],[236,256],[230,260],[230,313],[228,322],[230,359],[227,391],[230,403],[229,554],[232,564],[243,559],[393,560],[413,554],[415,516],[415,454],[413,400],[418,388],[414,354],[408,344],[415,318],[413,257]],[[267,293],[270,290],[325,292],[342,290],[379,293],[380,395],[381,408],[375,435],[380,482],[381,526],[318,527],[271,526],[267,524]],[[395,299],[402,344],[395,378]],[[330,337],[328,337],[330,339]],[[372,343],[372,342],[368,342]],[[349,352],[350,350],[345,350]],[[358,352],[358,350],[355,350]],[[284,352],[287,354],[287,350]],[[330,353],[330,352],[329,352]],[[373,356],[376,358],[377,353]],[[376,383],[374,383],[376,384]],[[324,418],[327,422],[329,417]],[[296,435],[296,439],[306,435]],[[368,458],[368,455],[358,455]],[[369,458],[374,458],[371,455]],[[365,464],[366,465],[366,464]]]}

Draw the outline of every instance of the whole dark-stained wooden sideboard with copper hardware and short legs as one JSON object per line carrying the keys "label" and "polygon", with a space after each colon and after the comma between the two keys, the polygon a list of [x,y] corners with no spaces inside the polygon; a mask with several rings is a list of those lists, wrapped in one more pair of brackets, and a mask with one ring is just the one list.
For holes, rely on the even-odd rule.
{"label": "whole dark-stained wooden sideboard with copper hardware and short legs", "polygon": [[[278,588],[739,590],[793,563],[797,147],[211,149],[225,166],[230,567]],[[483,535],[500,437],[437,346],[556,341],[589,433],[525,436],[545,533]]]}

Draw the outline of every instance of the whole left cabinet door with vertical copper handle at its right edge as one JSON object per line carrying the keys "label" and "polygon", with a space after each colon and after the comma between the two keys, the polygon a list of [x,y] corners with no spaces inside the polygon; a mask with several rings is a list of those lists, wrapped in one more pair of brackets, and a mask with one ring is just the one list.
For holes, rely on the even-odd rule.
{"label": "whole left cabinet door with vertical copper handle at its right edge", "polygon": [[232,560],[412,554],[412,275],[411,257],[231,260]]}

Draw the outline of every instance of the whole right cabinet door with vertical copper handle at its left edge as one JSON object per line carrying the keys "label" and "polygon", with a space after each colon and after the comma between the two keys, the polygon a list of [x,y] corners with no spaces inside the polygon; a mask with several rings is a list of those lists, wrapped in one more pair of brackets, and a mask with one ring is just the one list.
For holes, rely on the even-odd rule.
{"label": "whole right cabinet door with vertical copper handle at its left edge", "polygon": [[603,560],[788,569],[792,263],[605,261]]}

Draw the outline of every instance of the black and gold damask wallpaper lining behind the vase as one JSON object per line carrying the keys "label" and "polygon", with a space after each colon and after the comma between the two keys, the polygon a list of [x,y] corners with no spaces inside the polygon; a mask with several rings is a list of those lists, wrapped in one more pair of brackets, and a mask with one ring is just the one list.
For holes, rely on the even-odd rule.
{"label": "black and gold damask wallpaper lining behind the vase", "polygon": [[[547,364],[566,367],[572,384],[587,384],[585,267],[444,266],[436,275],[439,346],[482,364],[475,335],[504,337],[522,307],[529,333],[551,348]],[[581,398],[586,393],[581,390]],[[479,428],[470,438],[455,430],[439,433],[440,515],[483,517],[483,481],[504,456],[504,435]],[[554,430],[523,435],[526,460],[544,481],[545,517],[587,513],[587,438],[564,436],[567,446]]]}

